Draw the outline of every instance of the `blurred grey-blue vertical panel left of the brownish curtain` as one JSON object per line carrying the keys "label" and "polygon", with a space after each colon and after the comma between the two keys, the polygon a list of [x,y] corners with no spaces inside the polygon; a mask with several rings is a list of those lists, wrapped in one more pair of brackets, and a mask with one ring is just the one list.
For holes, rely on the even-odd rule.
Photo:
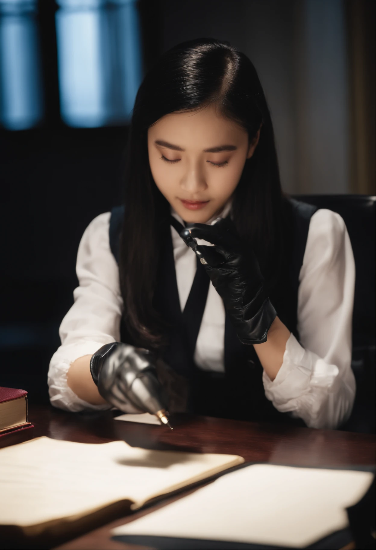
{"label": "blurred grey-blue vertical panel left of the brownish curtain", "polygon": [[297,131],[300,193],[349,191],[349,86],[342,0],[300,0]]}

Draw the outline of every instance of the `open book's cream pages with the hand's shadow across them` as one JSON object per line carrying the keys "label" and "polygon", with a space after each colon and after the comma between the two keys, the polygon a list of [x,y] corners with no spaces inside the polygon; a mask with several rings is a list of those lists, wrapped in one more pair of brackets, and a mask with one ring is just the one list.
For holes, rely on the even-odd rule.
{"label": "open book's cream pages with the hand's shadow across them", "polygon": [[86,515],[124,499],[142,505],[242,462],[236,455],[140,449],[125,441],[40,437],[0,449],[0,524]]}

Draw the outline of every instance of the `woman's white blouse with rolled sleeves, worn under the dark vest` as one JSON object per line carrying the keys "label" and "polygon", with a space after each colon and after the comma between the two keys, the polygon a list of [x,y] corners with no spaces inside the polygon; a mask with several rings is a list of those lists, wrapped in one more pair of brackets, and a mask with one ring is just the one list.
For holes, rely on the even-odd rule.
{"label": "woman's white blouse with rolled sleeves, worn under the dark vest", "polygon": [[[228,207],[220,217],[227,212]],[[176,212],[172,214],[183,222]],[[62,345],[49,364],[51,403],[69,411],[110,408],[86,403],[67,385],[73,361],[95,353],[103,344],[120,341],[123,300],[118,265],[109,247],[109,219],[110,212],[97,216],[82,235],[76,264],[79,287],[60,325]],[[171,232],[183,310],[195,276],[196,256],[173,227]],[[300,342],[290,335],[274,381],[263,372],[264,390],[276,409],[302,418],[307,426],[335,428],[350,416],[355,398],[351,370],[355,263],[345,223],[337,213],[318,210],[312,216],[299,281]],[[224,324],[223,301],[210,283],[195,350],[195,362],[204,370],[224,372]]]}

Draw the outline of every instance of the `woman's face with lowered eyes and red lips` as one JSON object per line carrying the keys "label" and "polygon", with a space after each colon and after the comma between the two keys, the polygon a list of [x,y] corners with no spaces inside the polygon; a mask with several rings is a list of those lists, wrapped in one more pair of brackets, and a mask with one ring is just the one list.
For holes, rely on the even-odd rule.
{"label": "woman's face with lowered eyes and red lips", "polygon": [[255,151],[247,131],[217,114],[214,106],[167,114],[148,129],[154,182],[185,222],[218,215]]}

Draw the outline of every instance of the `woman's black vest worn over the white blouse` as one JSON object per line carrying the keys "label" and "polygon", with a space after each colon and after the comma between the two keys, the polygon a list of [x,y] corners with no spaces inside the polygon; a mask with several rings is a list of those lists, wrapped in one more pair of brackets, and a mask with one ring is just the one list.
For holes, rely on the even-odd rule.
{"label": "woman's black vest worn over the white blouse", "polygon": [[[297,332],[297,292],[299,273],[306,248],[309,222],[316,207],[289,199],[285,203],[286,234],[283,269],[270,292],[270,300],[280,320],[299,339]],[[124,206],[112,210],[109,227],[110,248],[119,259],[119,237]],[[239,420],[287,422],[304,426],[302,420],[274,408],[264,393],[263,368],[252,345],[241,344],[229,316],[225,316],[224,364],[225,373],[204,372],[194,363],[187,348],[176,283],[173,244],[167,224],[162,237],[164,246],[159,258],[153,305],[165,321],[169,346],[163,354],[176,378],[188,388],[187,409],[196,414]],[[201,324],[201,320],[200,320]],[[198,327],[197,327],[198,332]],[[132,338],[121,324],[121,341],[132,344]],[[159,373],[158,373],[159,376]],[[170,384],[171,385],[171,384]]]}

